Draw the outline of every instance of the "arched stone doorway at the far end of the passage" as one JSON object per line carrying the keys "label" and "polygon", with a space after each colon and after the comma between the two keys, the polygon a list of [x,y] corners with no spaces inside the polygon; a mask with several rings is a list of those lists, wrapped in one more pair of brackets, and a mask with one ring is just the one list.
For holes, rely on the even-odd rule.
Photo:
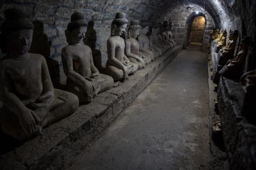
{"label": "arched stone doorway at the far end of the passage", "polygon": [[[207,20],[205,14],[193,12],[188,16],[185,26],[185,36],[183,39],[183,48],[186,48],[190,44],[199,46],[199,50],[205,50],[207,48],[206,39],[206,24]],[[207,31],[209,32],[209,31]]]}

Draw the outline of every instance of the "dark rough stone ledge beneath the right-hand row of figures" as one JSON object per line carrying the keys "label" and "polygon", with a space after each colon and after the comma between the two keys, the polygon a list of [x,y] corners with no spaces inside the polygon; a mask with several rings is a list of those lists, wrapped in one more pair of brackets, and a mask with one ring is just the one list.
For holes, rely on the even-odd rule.
{"label": "dark rough stone ledge beneath the right-hand row of figures", "polygon": [[237,96],[241,89],[241,84],[221,77],[218,88],[218,108],[230,169],[251,170],[256,169],[256,126],[250,124],[241,113],[241,106],[237,100],[241,98]]}

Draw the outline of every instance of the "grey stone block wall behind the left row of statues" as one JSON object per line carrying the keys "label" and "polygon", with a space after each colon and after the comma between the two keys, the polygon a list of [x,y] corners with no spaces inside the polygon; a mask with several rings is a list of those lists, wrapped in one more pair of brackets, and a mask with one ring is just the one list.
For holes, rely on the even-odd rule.
{"label": "grey stone block wall behind the left row of statues", "polygon": [[65,30],[74,12],[82,12],[87,21],[94,21],[97,32],[96,49],[100,52],[102,66],[107,60],[107,39],[110,37],[110,24],[116,12],[126,13],[129,20],[151,19],[158,1],[121,1],[121,0],[2,0],[0,1],[0,25],[4,21],[4,10],[21,8],[36,20],[34,41],[31,52],[42,54],[49,65],[55,87],[66,83],[61,61],[61,50],[67,45]]}

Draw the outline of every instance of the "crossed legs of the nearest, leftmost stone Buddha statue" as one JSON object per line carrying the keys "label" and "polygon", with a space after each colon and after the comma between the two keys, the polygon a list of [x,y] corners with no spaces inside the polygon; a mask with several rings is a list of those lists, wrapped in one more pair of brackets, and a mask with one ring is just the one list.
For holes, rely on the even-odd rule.
{"label": "crossed legs of the nearest, leftmost stone Buddha statue", "polygon": [[[27,107],[32,111],[34,110],[29,105],[27,105]],[[44,118],[40,117],[39,114],[41,113],[39,112],[37,113],[38,115],[36,115],[39,118],[42,118],[41,120],[36,121],[36,128],[38,130],[36,133],[25,133],[22,130],[17,115],[10,112],[5,106],[2,110],[0,118],[1,129],[4,133],[9,134],[20,141],[27,140],[41,133],[43,127],[51,123],[57,122],[62,118],[69,116],[70,114],[73,114],[74,112],[76,112],[77,107],[78,98],[76,95],[71,94],[67,91],[54,89],[54,100],[50,106],[47,106],[47,108],[45,108],[48,111],[43,114],[46,116]]]}

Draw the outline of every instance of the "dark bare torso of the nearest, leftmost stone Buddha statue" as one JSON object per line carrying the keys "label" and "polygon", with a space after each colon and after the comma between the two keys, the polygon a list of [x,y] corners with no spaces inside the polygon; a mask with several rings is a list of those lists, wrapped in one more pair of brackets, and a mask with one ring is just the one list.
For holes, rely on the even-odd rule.
{"label": "dark bare torso of the nearest, leftmost stone Buddha statue", "polygon": [[[36,99],[41,96],[43,60],[45,60],[43,56],[31,54],[26,60],[6,58],[3,61],[5,78],[8,79],[5,80],[8,83],[6,86],[21,100]],[[46,62],[44,64],[46,65]]]}

